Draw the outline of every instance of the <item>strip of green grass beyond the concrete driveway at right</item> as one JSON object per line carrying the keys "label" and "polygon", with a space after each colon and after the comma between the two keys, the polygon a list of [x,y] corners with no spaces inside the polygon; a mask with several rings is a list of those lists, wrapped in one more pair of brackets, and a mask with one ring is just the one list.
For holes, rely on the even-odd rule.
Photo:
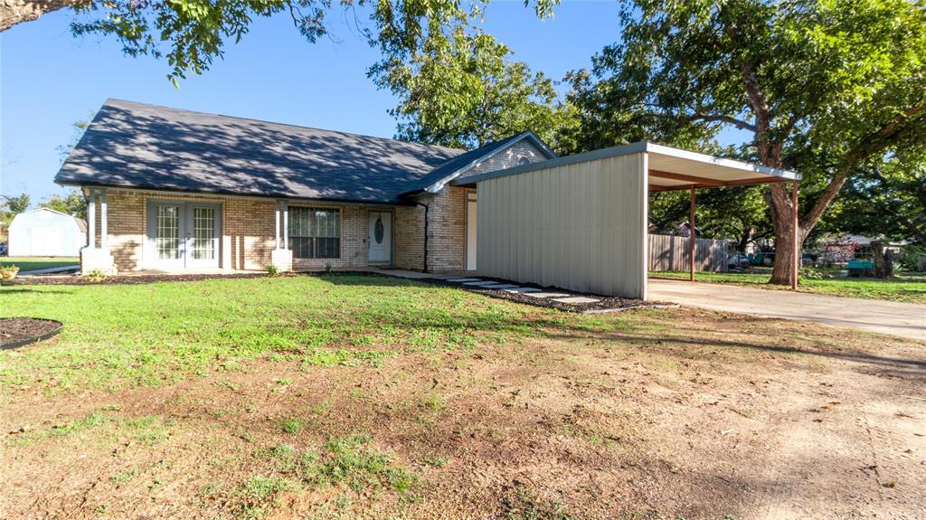
{"label": "strip of green grass beyond the concrete driveway at right", "polygon": [[[649,276],[665,279],[688,279],[687,272],[652,271]],[[791,289],[770,285],[770,269],[754,273],[694,273],[696,281],[728,283],[762,289]],[[903,273],[893,279],[857,279],[824,274],[822,279],[801,278],[799,291],[867,300],[926,303],[926,275]]]}

